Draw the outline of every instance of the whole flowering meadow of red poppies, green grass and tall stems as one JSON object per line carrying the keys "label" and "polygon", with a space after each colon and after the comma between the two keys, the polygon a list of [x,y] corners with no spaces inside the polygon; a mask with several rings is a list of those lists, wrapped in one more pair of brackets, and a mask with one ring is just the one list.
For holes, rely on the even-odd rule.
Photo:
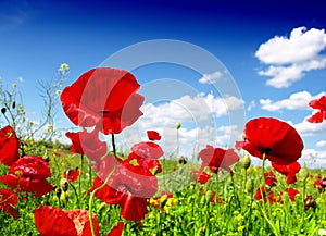
{"label": "whole flowering meadow of red poppies, green grass and tall stems", "polygon": [[[165,157],[155,131],[122,153],[115,134],[141,116],[140,85],[127,72],[100,69],[58,91],[65,66],[58,83],[42,85],[42,124],[26,119],[15,85],[1,87],[0,235],[326,235],[326,173],[299,164],[304,146],[289,124],[248,121],[243,140],[208,145],[196,163]],[[95,90],[96,99],[87,97]],[[311,122],[326,117],[325,99],[312,101],[321,111]],[[55,140],[58,103],[82,127],[65,134],[68,146]]]}

